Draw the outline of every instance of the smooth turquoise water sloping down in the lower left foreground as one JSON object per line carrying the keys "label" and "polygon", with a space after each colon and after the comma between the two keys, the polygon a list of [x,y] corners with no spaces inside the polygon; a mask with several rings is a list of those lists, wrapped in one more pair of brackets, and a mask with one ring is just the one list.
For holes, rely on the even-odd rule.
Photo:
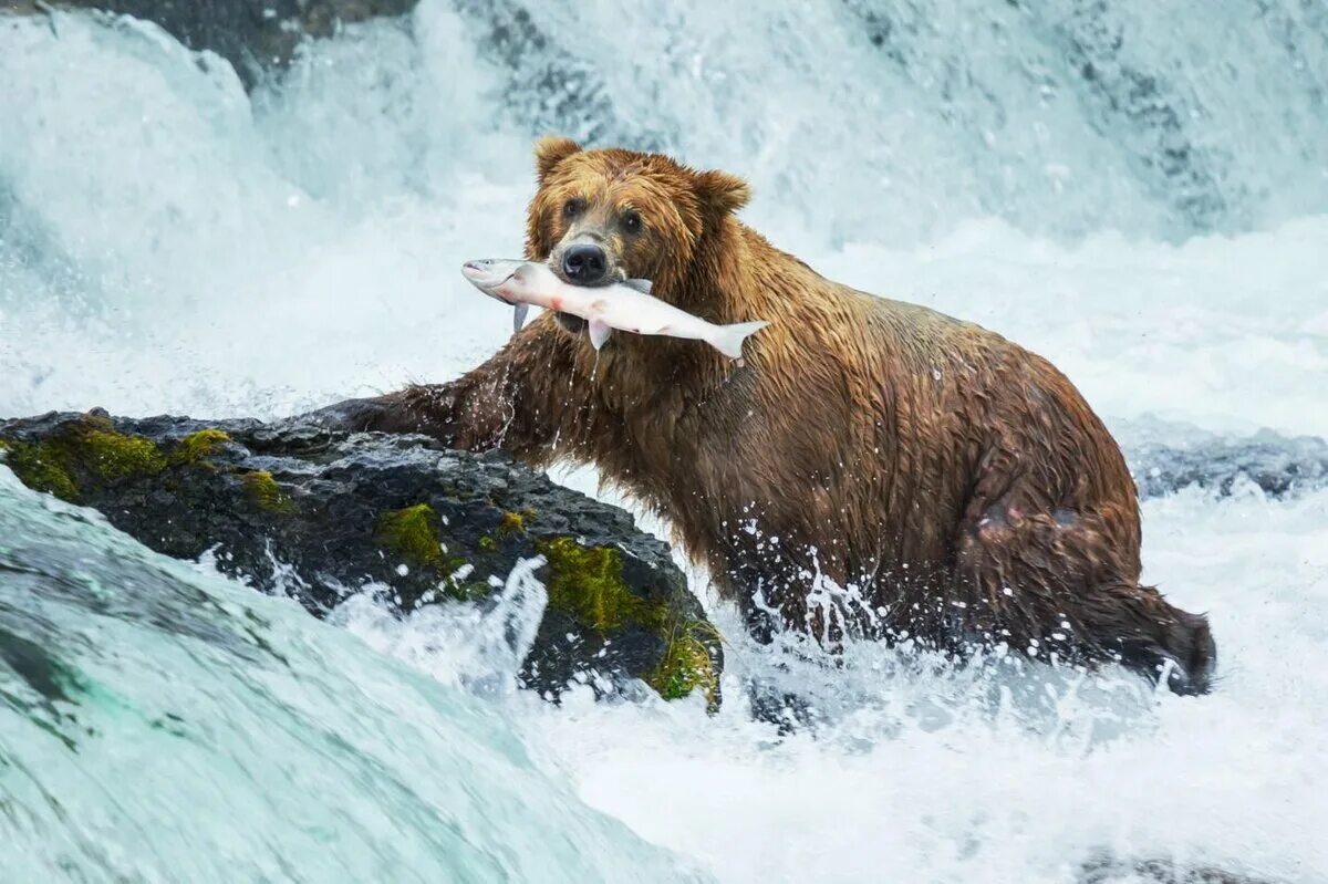
{"label": "smooth turquoise water sloping down in the lower left foreground", "polygon": [[502,709],[0,470],[7,881],[703,880]]}

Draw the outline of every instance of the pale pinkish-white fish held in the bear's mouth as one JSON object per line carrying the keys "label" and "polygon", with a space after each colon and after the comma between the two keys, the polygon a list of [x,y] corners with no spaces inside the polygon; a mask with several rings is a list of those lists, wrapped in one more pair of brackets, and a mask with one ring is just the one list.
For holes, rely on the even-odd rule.
{"label": "pale pinkish-white fish held in the bear's mouth", "polygon": [[571,285],[547,264],[483,259],[466,261],[461,273],[485,295],[511,304],[513,333],[526,323],[530,305],[571,313],[586,320],[590,344],[604,346],[614,329],[635,334],[664,334],[705,341],[730,360],[742,358],[742,342],[769,325],[766,321],[717,325],[651,295],[651,283],[628,279],[611,285]]}

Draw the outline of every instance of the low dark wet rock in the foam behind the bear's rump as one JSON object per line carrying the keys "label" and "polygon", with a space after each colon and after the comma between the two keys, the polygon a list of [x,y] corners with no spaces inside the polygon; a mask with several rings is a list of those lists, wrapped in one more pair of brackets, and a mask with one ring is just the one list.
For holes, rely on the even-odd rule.
{"label": "low dark wet rock in the foam behind the bear's rump", "polygon": [[1170,446],[1143,443],[1126,449],[1141,498],[1155,498],[1198,486],[1227,496],[1251,482],[1271,498],[1313,491],[1328,484],[1328,442],[1289,438],[1263,430],[1243,439],[1208,438]]}

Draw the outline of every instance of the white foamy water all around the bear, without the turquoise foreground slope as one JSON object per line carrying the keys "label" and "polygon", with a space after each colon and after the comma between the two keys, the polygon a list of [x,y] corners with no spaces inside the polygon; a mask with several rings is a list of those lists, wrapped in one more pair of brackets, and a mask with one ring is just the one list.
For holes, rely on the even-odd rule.
{"label": "white foamy water all around the bear, without the turquoise foreground slope", "polygon": [[[1117,86],[1179,35],[1163,98],[1202,106],[1177,123],[1199,169],[1186,186],[1234,207],[1211,224],[1232,232],[1191,235],[1171,183],[1135,165],[1175,130],[1076,117],[1094,97],[1048,54],[1082,36],[1064,11],[1056,40],[1001,56],[1023,13],[987,12],[999,27],[979,33],[914,4],[930,12],[895,16],[883,61],[870,40],[841,46],[857,32],[819,8],[786,4],[744,44],[721,38],[736,12],[703,5],[640,4],[603,33],[587,27],[611,15],[600,4],[551,16],[550,53],[594,31],[576,52],[610,72],[624,131],[752,177],[744,219],[778,246],[1049,357],[1113,427],[1328,434],[1324,68],[1309,38],[1267,45],[1275,19],[1313,33],[1309,12],[1271,4],[1243,31],[1234,12],[1104,13],[1108,32],[1145,35],[1125,41]],[[0,414],[272,417],[448,380],[506,338],[507,313],[457,268],[521,251],[529,133],[473,17],[426,3],[410,28],[348,28],[252,101],[151,28],[56,21],[58,38],[0,19]],[[1279,52],[1305,66],[1274,89]],[[1235,73],[1206,80],[1204,53]],[[1263,108],[1275,94],[1284,106]],[[592,471],[556,475],[596,492]],[[717,717],[588,690],[556,709],[497,692],[498,709],[546,770],[721,880],[1068,881],[1094,851],[1328,880],[1328,496],[1186,492],[1143,515],[1146,579],[1212,619],[1210,697],[1154,697],[1120,673],[1044,689],[879,646],[774,653],[693,575],[729,640]],[[343,616],[445,682],[511,670],[446,612]],[[822,723],[753,723],[748,680],[811,697]]]}

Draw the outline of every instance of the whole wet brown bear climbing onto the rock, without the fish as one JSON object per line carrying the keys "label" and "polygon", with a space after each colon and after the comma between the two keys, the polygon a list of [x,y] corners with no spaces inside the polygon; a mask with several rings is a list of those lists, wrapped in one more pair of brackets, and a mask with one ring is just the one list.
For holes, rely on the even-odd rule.
{"label": "whole wet brown bear climbing onto the rock, without the fish", "polygon": [[768,320],[745,358],[627,333],[596,353],[580,320],[544,313],[450,384],[320,419],[592,463],[761,637],[1004,644],[1208,689],[1207,620],[1139,585],[1134,482],[1046,360],[822,277],[736,218],[749,190],[726,173],[566,138],[535,157],[530,260],[576,285],[652,280],[712,323]]}

